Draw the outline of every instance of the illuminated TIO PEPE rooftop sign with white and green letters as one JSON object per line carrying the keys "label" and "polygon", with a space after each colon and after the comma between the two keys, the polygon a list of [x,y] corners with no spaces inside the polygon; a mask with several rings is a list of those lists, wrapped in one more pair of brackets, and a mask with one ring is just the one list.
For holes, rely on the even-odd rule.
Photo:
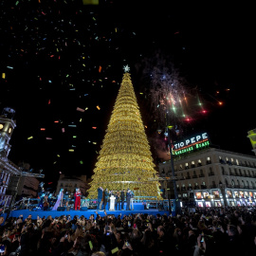
{"label": "illuminated TIO PEPE rooftop sign with white and green letters", "polygon": [[207,133],[187,138],[181,142],[175,143],[173,147],[174,155],[181,155],[192,152],[195,149],[205,148],[210,145]]}

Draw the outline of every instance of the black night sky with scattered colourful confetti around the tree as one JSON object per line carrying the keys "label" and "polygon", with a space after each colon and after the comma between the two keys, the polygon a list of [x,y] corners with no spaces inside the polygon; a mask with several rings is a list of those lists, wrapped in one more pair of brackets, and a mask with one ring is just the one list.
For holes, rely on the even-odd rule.
{"label": "black night sky with scattered colourful confetti around the tree", "polygon": [[1,1],[0,108],[13,107],[17,123],[9,159],[43,169],[50,186],[60,172],[90,176],[126,64],[154,149],[143,67],[159,65],[157,52],[205,103],[183,136],[206,131],[215,146],[253,155],[252,8],[172,2]]}

